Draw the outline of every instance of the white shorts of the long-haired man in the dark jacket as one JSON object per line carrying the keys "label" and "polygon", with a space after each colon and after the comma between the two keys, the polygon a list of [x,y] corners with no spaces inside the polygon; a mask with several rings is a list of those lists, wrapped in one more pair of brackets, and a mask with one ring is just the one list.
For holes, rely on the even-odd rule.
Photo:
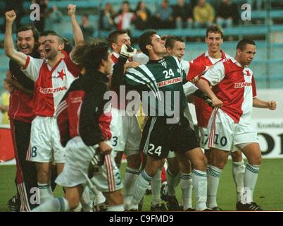
{"label": "white shorts of the long-haired man in the dark jacket", "polygon": [[[68,141],[66,145],[65,166],[63,172],[57,177],[56,184],[65,187],[73,187],[79,184],[84,186],[87,183],[89,163],[98,147],[99,145],[92,147],[85,145],[80,136],[76,136]],[[102,192],[122,189],[120,171],[111,155],[106,155],[104,165],[101,167],[100,172],[94,174],[92,182]]]}

